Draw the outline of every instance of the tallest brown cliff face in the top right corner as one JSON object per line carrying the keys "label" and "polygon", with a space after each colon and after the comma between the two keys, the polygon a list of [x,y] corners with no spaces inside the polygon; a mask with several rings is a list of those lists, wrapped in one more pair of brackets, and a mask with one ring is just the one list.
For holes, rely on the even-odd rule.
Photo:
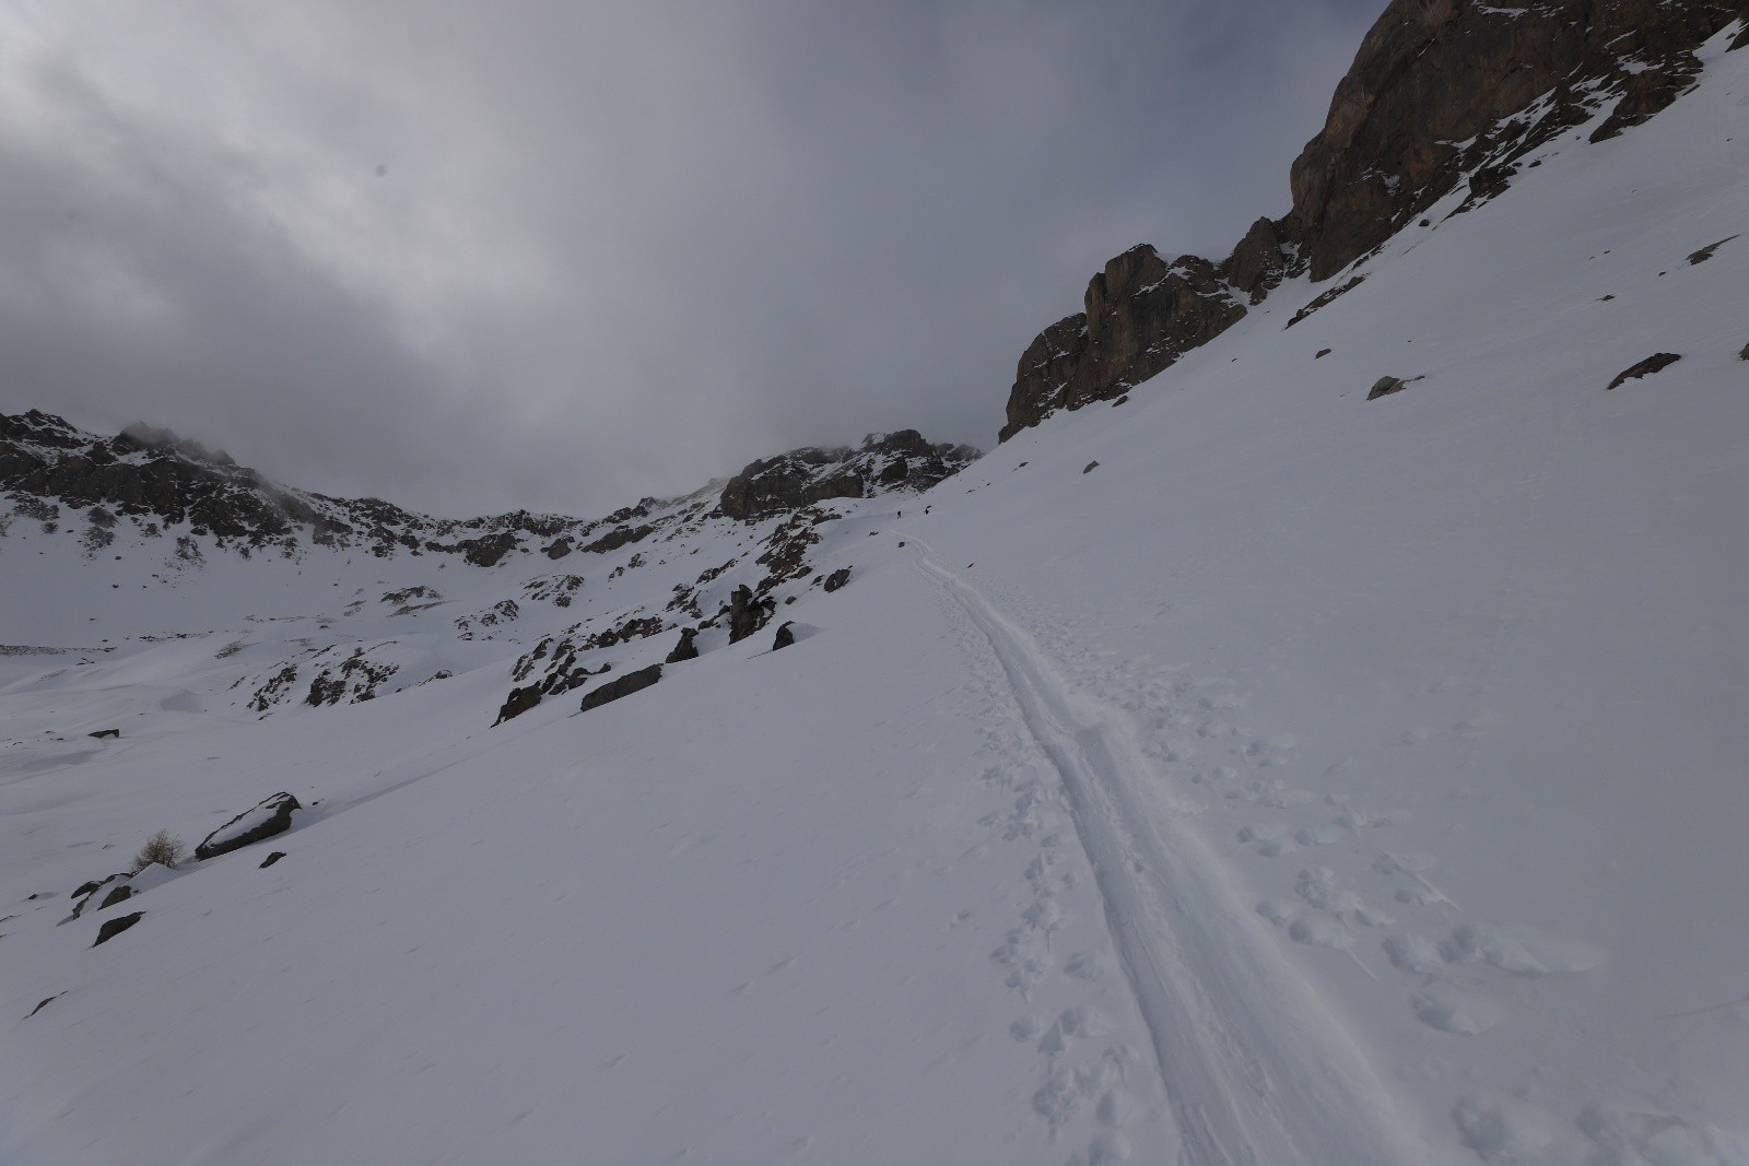
{"label": "tallest brown cliff face in the top right corner", "polygon": [[[1593,140],[1646,121],[1693,82],[1693,49],[1739,16],[1740,3],[1719,0],[1392,0],[1293,164],[1289,220],[1312,278],[1389,239],[1462,175],[1579,124],[1607,94],[1621,100]],[[1543,94],[1551,108],[1534,126],[1501,124]]]}

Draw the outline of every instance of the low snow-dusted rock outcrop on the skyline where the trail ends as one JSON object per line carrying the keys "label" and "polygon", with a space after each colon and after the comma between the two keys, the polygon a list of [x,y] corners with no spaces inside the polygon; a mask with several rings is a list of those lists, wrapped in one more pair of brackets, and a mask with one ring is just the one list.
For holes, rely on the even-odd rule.
{"label": "low snow-dusted rock outcrop on the skyline where the trail ends", "polygon": [[831,498],[929,489],[978,458],[971,446],[930,444],[916,430],[869,434],[855,449],[791,449],[749,463],[717,500],[729,517],[759,521]]}

